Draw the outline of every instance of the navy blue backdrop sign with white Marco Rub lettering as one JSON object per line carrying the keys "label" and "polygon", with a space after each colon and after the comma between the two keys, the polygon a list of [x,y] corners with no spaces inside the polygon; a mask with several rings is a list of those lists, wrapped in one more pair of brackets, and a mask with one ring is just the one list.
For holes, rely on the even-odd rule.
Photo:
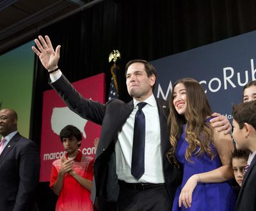
{"label": "navy blue backdrop sign with white Marco Rub lettering", "polygon": [[256,31],[150,62],[157,70],[157,98],[168,99],[175,81],[193,77],[215,112],[231,119],[243,86],[255,80]]}

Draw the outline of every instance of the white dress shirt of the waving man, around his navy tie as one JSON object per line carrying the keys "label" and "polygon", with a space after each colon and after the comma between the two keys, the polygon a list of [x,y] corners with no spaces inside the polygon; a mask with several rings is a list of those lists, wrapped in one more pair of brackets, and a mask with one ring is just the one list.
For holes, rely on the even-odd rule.
{"label": "white dress shirt of the waving man, around his navy tie", "polygon": [[160,122],[157,103],[154,95],[144,102],[147,105],[142,111],[145,114],[145,173],[140,180],[131,175],[132,143],[134,132],[134,118],[138,111],[138,101],[133,100],[134,109],[125,122],[122,130],[118,133],[115,145],[116,174],[119,180],[129,183],[149,182],[154,184],[164,183],[163,162],[161,155]]}

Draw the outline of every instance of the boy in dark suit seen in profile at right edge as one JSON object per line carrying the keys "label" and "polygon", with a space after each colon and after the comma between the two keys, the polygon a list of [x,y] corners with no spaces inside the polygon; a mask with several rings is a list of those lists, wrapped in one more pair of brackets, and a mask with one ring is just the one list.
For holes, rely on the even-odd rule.
{"label": "boy in dark suit seen in profile at right edge", "polygon": [[256,210],[256,101],[245,102],[233,107],[233,134],[237,149],[248,149],[248,168],[244,175],[236,211]]}

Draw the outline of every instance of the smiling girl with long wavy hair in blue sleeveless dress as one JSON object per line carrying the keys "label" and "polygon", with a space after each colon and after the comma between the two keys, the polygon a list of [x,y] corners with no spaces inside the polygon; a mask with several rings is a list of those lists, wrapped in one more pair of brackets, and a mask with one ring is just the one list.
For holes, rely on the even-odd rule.
{"label": "smiling girl with long wavy hair in blue sleeveless dress", "polygon": [[236,194],[228,184],[234,178],[230,134],[211,127],[212,110],[195,79],[175,82],[170,97],[169,156],[182,169],[182,184],[173,201],[177,210],[234,210]]}

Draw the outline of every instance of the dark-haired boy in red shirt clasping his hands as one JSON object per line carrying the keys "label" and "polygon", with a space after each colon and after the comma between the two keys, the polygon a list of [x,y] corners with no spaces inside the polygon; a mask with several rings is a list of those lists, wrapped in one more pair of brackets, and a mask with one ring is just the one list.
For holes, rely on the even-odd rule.
{"label": "dark-haired boy in red shirt clasping his hands", "polygon": [[67,125],[60,132],[67,153],[52,162],[50,187],[57,194],[56,211],[93,210],[90,199],[93,180],[93,158],[82,154],[79,129]]}

